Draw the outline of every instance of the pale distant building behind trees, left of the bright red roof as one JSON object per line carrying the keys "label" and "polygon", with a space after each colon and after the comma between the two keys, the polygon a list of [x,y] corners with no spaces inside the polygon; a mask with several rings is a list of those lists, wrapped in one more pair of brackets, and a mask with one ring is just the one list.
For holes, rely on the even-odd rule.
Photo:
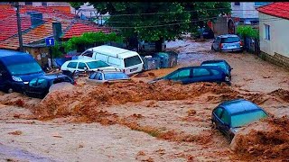
{"label": "pale distant building behind trees, left of the bright red roof", "polygon": [[269,4],[268,2],[233,2],[231,3],[232,17],[239,17],[239,23],[258,23],[257,7]]}

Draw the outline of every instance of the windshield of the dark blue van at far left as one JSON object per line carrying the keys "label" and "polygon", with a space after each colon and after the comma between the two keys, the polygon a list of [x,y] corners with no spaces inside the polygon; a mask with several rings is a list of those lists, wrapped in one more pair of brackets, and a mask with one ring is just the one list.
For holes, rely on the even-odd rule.
{"label": "windshield of the dark blue van at far left", "polygon": [[13,76],[29,75],[42,72],[42,67],[37,62],[25,62],[7,66]]}

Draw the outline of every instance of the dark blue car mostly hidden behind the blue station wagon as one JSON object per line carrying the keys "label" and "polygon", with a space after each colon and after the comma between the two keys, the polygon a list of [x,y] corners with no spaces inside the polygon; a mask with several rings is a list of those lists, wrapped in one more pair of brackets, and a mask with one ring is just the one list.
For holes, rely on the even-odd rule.
{"label": "dark blue car mostly hidden behind the blue station wagon", "polygon": [[228,77],[231,80],[231,70],[233,69],[228,65],[228,62],[224,59],[214,59],[214,60],[206,60],[203,61],[200,66],[218,66],[222,68],[225,73],[228,75]]}

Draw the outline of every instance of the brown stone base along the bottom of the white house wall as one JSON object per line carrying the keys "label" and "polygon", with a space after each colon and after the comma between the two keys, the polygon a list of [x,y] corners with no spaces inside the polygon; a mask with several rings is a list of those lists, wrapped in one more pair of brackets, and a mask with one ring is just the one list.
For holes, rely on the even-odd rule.
{"label": "brown stone base along the bottom of the white house wall", "polygon": [[283,55],[280,55],[276,52],[275,52],[274,56],[271,56],[271,55],[261,51],[260,58],[263,58],[266,61],[271,62],[277,66],[289,69],[289,58],[284,57]]}

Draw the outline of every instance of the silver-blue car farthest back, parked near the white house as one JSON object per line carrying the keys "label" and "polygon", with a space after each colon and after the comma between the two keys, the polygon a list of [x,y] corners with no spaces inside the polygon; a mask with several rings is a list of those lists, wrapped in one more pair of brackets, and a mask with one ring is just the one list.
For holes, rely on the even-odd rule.
{"label": "silver-blue car farthest back, parked near the white house", "polygon": [[211,49],[215,51],[243,51],[243,42],[238,35],[219,35],[213,41]]}

